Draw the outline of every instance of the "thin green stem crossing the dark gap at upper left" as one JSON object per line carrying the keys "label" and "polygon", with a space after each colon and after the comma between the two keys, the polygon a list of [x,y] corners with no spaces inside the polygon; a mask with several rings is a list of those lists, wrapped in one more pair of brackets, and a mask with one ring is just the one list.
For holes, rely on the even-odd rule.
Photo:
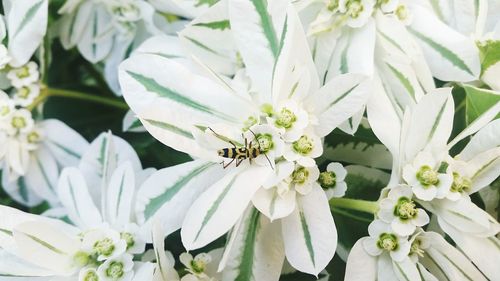
{"label": "thin green stem crossing the dark gap at upper left", "polygon": [[72,90],[56,89],[56,88],[42,89],[40,96],[37,99],[35,99],[35,101],[33,101],[33,103],[30,104],[27,107],[27,109],[33,110],[37,105],[44,102],[49,97],[63,97],[63,98],[79,99],[79,100],[84,100],[84,101],[88,101],[88,102],[93,102],[93,103],[98,103],[98,104],[102,104],[102,105],[115,107],[118,109],[124,109],[124,110],[129,109],[128,105],[125,102],[123,102],[119,99],[116,99],[116,98],[101,97],[101,96],[90,95],[87,93],[82,93],[82,92],[77,92],[77,91],[72,91]]}

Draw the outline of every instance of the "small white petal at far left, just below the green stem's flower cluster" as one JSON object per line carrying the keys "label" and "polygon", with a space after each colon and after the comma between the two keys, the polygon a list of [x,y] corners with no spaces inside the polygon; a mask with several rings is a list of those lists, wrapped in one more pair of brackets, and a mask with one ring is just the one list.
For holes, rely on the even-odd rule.
{"label": "small white petal at far left, just below the green stem's flower cluster", "polygon": [[75,166],[80,161],[89,143],[75,130],[56,119],[40,122],[45,139],[44,144],[61,166]]}

